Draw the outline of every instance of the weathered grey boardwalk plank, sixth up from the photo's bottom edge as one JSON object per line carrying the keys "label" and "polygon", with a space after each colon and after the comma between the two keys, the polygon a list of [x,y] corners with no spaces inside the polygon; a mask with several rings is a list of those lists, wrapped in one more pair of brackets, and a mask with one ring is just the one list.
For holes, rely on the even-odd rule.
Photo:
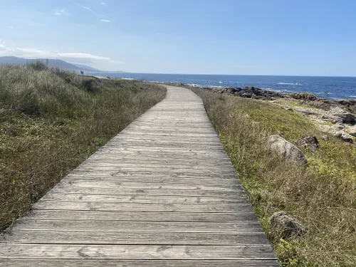
{"label": "weathered grey boardwalk plank, sixth up from the photo's bottom edge", "polygon": [[64,209],[81,211],[156,211],[156,212],[244,212],[252,211],[250,204],[155,204],[155,203],[115,203],[98,201],[51,201],[41,199],[33,209]]}

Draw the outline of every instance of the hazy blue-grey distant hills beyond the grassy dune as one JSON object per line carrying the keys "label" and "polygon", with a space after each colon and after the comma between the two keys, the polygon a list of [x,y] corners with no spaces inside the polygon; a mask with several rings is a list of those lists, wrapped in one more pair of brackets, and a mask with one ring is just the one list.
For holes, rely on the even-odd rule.
{"label": "hazy blue-grey distant hills beyond the grassy dune", "polygon": [[[38,59],[27,59],[27,58],[17,58],[16,56],[0,56],[0,66],[6,64],[14,65],[24,65],[26,63],[31,63],[33,61],[46,61],[46,58]],[[83,70],[83,71],[100,71],[96,68],[92,68],[80,64],[72,64],[61,59],[48,59],[48,65],[52,68],[62,68],[65,70]]]}

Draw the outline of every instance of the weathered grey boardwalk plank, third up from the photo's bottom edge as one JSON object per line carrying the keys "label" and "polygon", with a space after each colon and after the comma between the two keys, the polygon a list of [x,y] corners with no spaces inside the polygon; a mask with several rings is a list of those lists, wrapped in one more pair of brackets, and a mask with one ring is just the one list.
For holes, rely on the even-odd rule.
{"label": "weathered grey boardwalk plank, third up from the photo's bottom edge", "polygon": [[26,244],[120,244],[120,245],[268,245],[263,232],[145,232],[145,231],[43,231],[19,230],[0,236],[1,241]]}

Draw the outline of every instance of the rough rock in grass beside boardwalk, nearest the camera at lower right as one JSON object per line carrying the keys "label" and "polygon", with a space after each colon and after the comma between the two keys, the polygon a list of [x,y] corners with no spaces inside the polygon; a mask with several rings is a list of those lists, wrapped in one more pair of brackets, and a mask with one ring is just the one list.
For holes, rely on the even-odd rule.
{"label": "rough rock in grass beside boardwalk, nearest the camera at lower right", "polygon": [[278,239],[292,239],[303,236],[306,228],[297,219],[289,216],[285,211],[277,211],[269,218],[271,231]]}

